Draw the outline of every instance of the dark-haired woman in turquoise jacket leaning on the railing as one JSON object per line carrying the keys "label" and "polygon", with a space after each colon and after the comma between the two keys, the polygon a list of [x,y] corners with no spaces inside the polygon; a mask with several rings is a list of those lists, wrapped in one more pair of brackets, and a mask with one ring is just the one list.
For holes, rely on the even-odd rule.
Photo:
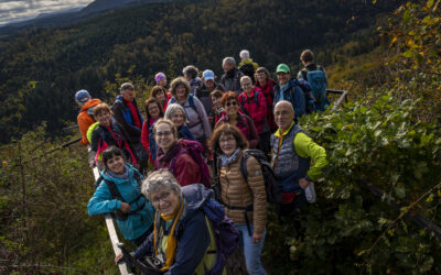
{"label": "dark-haired woman in turquoise jacket leaning on the railing", "polygon": [[[139,185],[143,177],[133,166],[125,163],[122,152],[115,146],[104,151],[103,162],[106,168],[87,204],[87,211],[90,216],[115,213],[123,238],[139,246],[153,230],[154,213],[150,201],[141,196]],[[114,188],[120,198],[112,195]]]}

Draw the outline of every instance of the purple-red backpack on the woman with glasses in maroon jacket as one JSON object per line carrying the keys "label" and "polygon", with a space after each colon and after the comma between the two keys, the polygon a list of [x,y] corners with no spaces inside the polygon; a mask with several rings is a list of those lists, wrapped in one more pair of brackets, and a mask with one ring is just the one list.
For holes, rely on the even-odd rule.
{"label": "purple-red backpack on the woman with glasses in maroon jacket", "polygon": [[181,144],[181,150],[170,162],[170,169],[173,173],[173,175],[176,175],[178,156],[180,156],[182,153],[187,153],[193,158],[193,161],[197,163],[197,165],[200,166],[202,184],[205,187],[209,188],[211,187],[209,169],[205,158],[202,156],[204,148],[202,147],[201,143],[197,141],[189,141],[189,140],[180,140],[179,143]]}

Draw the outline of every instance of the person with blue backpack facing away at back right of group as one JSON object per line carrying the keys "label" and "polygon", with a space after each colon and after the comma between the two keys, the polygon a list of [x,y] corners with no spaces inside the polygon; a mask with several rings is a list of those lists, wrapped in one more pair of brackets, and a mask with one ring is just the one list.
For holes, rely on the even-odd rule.
{"label": "person with blue backpack facing away at back right of group", "polygon": [[[312,88],[315,101],[315,110],[323,111],[330,101],[326,97],[327,76],[323,66],[314,63],[314,54],[311,50],[304,50],[300,55],[304,68],[299,70],[298,79],[306,80]],[[311,74],[310,74],[311,73]]]}

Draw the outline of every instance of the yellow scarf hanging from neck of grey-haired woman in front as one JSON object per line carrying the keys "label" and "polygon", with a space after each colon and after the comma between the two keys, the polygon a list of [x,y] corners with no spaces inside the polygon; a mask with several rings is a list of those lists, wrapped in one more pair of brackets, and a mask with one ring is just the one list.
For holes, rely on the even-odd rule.
{"label": "yellow scarf hanging from neck of grey-haired woman in front", "polygon": [[[176,207],[173,213],[165,216],[161,213],[161,219],[165,221],[170,221],[173,219],[173,224],[170,229],[169,237],[166,239],[166,249],[165,249],[165,265],[161,268],[161,271],[168,271],[174,263],[174,256],[176,254],[178,241],[174,238],[174,229],[176,228],[178,221],[181,218],[182,211],[184,209],[183,199],[180,199],[180,206]],[[157,210],[158,215],[158,210]],[[154,231],[153,231],[153,245],[154,253],[158,255],[158,228],[157,228],[157,219],[154,219]]]}

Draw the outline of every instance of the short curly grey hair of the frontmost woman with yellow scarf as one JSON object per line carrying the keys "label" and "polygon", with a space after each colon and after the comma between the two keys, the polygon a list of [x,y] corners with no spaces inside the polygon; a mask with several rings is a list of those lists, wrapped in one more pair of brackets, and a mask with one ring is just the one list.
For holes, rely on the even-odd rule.
{"label": "short curly grey hair of the frontmost woman with yellow scarf", "polygon": [[169,169],[162,168],[154,170],[142,182],[141,193],[151,200],[150,195],[163,189],[171,189],[176,196],[182,197],[181,186],[178,179]]}

